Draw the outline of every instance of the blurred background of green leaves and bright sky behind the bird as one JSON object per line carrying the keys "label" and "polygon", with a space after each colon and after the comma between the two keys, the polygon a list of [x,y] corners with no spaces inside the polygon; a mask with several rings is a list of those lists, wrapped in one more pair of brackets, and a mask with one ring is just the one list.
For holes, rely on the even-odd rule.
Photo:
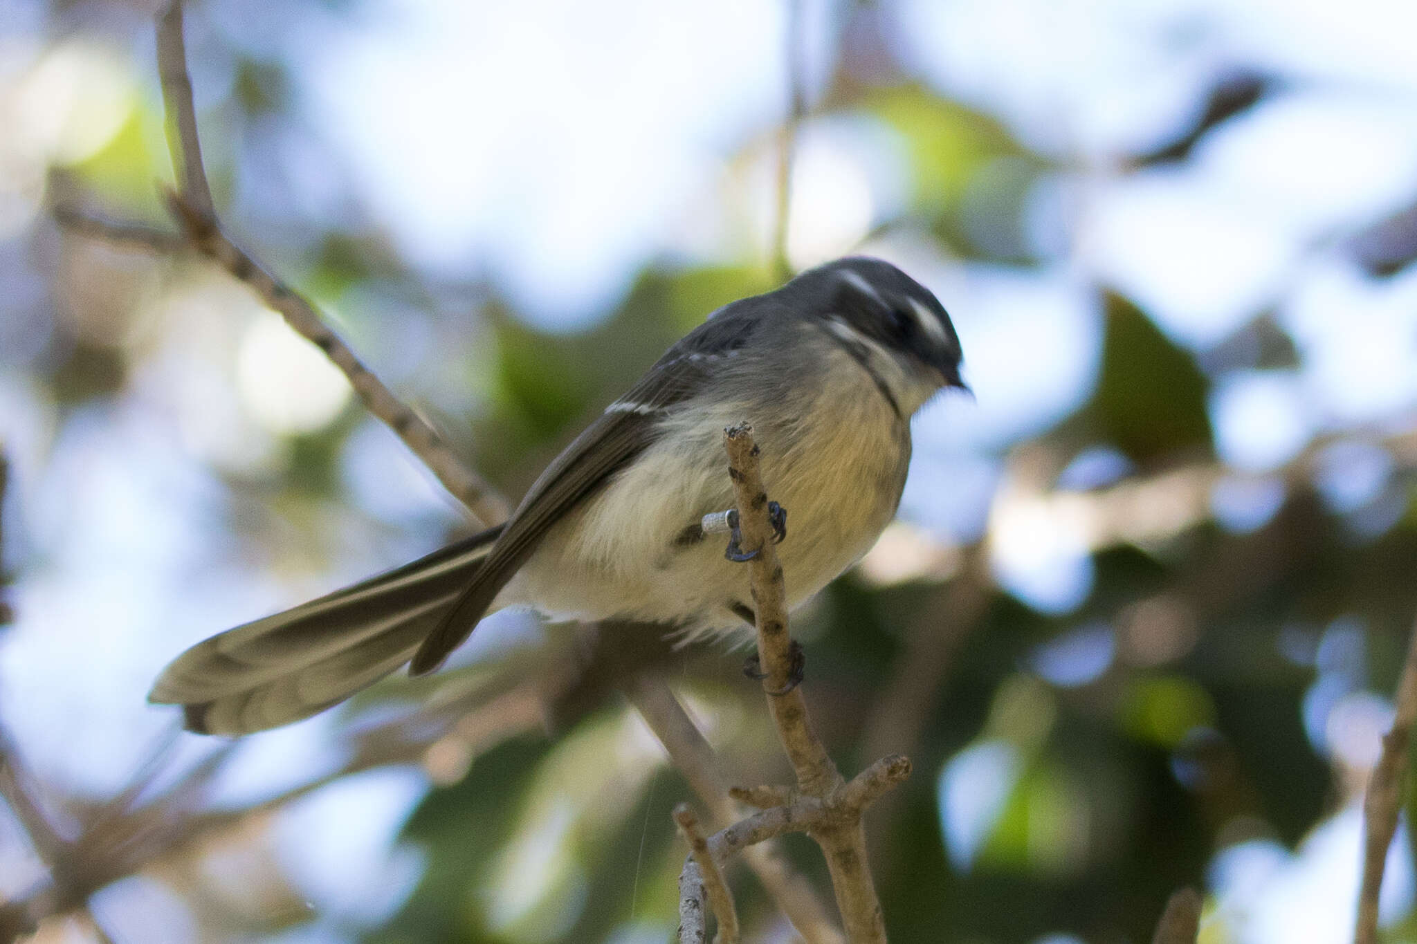
{"label": "blurred background of green leaves and bright sky behind the bird", "polygon": [[[616,685],[667,672],[734,780],[781,781],[738,652],[510,614],[235,746],[143,703],[181,647],[466,526],[242,287],[55,224],[162,225],[149,13],[0,0],[0,747],[41,814],[0,815],[0,893],[95,892],[44,941],[669,940],[687,788]],[[837,760],[915,761],[870,821],[891,940],[1144,941],[1190,883],[1206,944],[1295,944],[1348,934],[1417,611],[1414,30],[1401,0],[208,0],[188,51],[231,232],[516,495],[772,287],[796,37],[791,265],[907,267],[976,392],[917,420],[900,522],[795,626]]]}

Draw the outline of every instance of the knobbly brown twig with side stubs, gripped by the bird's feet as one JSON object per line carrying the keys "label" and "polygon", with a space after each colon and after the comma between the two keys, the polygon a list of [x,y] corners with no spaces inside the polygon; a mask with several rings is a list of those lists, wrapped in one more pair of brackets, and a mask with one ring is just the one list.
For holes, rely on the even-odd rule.
{"label": "knobbly brown twig with side stubs, gripped by the bird's feet", "polygon": [[[724,447],[743,532],[741,546],[747,552],[757,551],[748,566],[762,686],[778,737],[796,773],[801,795],[791,804],[771,807],[716,834],[708,839],[708,849],[721,865],[733,852],[779,832],[805,831],[826,856],[847,940],[853,944],[884,944],[886,923],[867,869],[862,817],[880,794],[910,776],[910,760],[898,754],[881,759],[846,783],[812,730],[801,686],[789,686],[792,640],[788,634],[786,593],[782,565],[772,543],[768,493],[758,468],[752,429],[741,425],[724,430]],[[781,797],[782,791],[757,787],[738,795],[767,801]],[[686,882],[682,876],[682,894],[686,886],[689,897],[697,899],[697,913],[701,913],[707,894],[703,883]],[[686,911],[693,913],[694,907],[682,897],[680,913]],[[691,940],[682,928],[680,941]]]}

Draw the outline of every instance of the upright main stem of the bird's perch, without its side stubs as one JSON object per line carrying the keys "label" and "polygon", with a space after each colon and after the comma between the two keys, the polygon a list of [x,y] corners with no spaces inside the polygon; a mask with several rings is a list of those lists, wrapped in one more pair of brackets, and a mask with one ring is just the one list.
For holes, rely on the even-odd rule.
{"label": "upright main stem of the bird's perch, without its side stubs", "polygon": [[[867,865],[863,808],[854,805],[854,794],[845,793],[847,785],[840,771],[812,730],[802,688],[791,684],[794,655],[788,634],[786,590],[782,565],[772,543],[768,493],[758,468],[758,447],[752,442],[752,427],[743,423],[724,430],[724,449],[728,453],[728,477],[733,481],[734,504],[743,532],[741,546],[755,555],[748,566],[768,712],[777,726],[778,739],[792,761],[798,787],[833,812],[815,827],[811,835],[826,856],[846,937],[853,944],[884,944],[886,921]],[[788,512],[791,514],[791,510]],[[910,761],[904,757],[887,759],[873,764],[867,773],[904,777],[910,773]]]}

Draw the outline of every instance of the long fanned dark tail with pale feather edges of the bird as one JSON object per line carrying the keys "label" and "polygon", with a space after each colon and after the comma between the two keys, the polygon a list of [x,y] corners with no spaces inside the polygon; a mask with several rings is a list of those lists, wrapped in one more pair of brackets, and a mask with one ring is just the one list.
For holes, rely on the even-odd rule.
{"label": "long fanned dark tail with pale feather edges of the bird", "polygon": [[181,705],[188,730],[247,735],[309,718],[412,658],[473,580],[502,528],[238,626],[163,669],[147,701]]}

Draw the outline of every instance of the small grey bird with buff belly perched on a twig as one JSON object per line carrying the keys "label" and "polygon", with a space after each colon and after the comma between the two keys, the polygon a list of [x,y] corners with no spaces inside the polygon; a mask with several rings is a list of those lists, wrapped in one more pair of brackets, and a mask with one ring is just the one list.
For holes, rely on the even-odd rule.
{"label": "small grey bird with buff belly perched on a twig", "polygon": [[910,418],[964,388],[924,286],[849,258],[708,316],[557,456],[512,518],[427,558],[191,647],[150,701],[244,735],[336,705],[405,662],[431,672],[483,616],[629,620],[691,638],[751,628],[748,570],[704,535],[733,507],[723,430],[750,422],[791,512],[796,606],[864,555],[900,502]]}

